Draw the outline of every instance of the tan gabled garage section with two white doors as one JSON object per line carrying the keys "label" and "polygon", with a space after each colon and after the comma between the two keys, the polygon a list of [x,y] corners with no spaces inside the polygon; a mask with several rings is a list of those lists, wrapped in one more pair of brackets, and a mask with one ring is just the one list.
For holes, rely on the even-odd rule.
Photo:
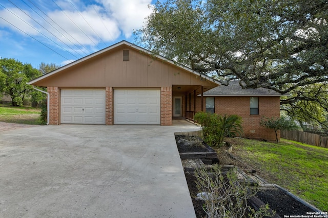
{"label": "tan gabled garage section with two white doors", "polygon": [[[49,124],[172,125],[182,96],[220,83],[121,41],[30,81],[46,87]],[[201,98],[201,97],[200,97]]]}

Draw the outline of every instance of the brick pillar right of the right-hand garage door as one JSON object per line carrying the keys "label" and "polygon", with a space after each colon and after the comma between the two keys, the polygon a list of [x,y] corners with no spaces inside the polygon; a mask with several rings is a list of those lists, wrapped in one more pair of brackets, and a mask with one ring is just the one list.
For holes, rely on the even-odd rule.
{"label": "brick pillar right of the right-hand garage door", "polygon": [[160,125],[172,125],[172,87],[160,88]]}

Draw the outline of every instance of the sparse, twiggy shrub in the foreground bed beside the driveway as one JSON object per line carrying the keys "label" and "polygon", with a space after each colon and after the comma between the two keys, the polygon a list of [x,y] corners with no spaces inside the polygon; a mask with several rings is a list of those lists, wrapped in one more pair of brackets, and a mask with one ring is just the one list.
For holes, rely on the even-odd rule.
{"label": "sparse, twiggy shrub in the foreground bed beside the driveway", "polygon": [[[207,217],[263,217],[273,216],[269,212],[269,206],[255,212],[249,205],[248,199],[255,196],[257,189],[239,183],[235,169],[227,173],[227,178],[221,173],[218,165],[214,165],[210,171],[206,168],[196,168],[196,185],[201,199],[204,201],[203,210]],[[251,211],[252,214],[248,214]]]}

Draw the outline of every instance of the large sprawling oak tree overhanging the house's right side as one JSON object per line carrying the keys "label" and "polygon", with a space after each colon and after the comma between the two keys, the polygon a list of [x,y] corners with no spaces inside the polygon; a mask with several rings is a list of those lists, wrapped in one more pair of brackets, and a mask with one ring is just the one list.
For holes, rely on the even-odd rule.
{"label": "large sprawling oak tree overhanging the house's right side", "polygon": [[300,104],[327,112],[311,94],[328,82],[327,18],[327,0],[158,1],[136,42],[223,84],[288,93],[281,105],[291,114]]}

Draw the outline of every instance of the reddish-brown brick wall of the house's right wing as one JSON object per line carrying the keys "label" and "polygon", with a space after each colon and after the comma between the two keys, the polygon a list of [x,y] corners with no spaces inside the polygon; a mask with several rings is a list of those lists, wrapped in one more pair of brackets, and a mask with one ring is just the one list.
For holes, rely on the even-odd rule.
{"label": "reddish-brown brick wall of the house's right wing", "polygon": [[[200,98],[197,98],[196,110],[200,109]],[[204,105],[206,98],[204,98]],[[250,96],[221,96],[215,97],[215,113],[217,114],[237,114],[242,118],[242,127],[244,137],[265,139],[275,141],[275,132],[260,126],[260,120],[265,117],[280,116],[280,98],[279,96],[259,97],[259,114],[250,114]],[[278,132],[280,137],[280,132]]]}

